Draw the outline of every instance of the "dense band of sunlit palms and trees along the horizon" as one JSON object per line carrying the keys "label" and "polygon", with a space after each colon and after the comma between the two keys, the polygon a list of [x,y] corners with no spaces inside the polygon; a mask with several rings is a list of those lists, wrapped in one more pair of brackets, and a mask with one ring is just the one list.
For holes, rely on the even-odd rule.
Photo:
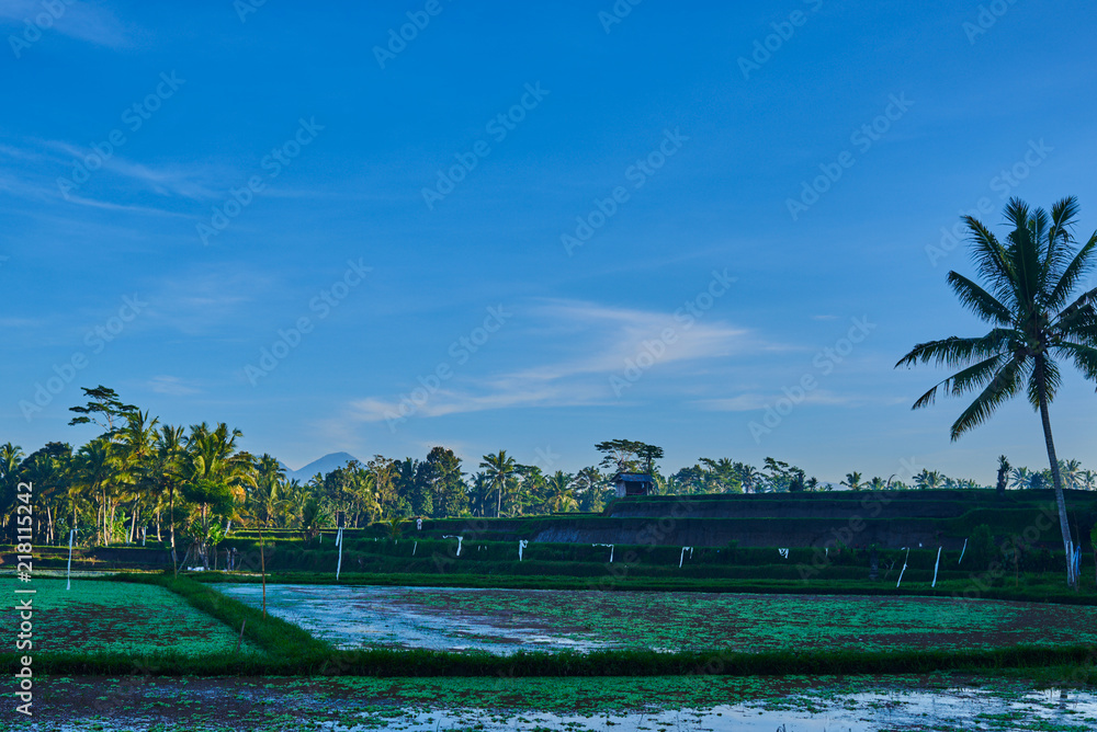
{"label": "dense band of sunlit palms and trees along the horizon", "polygon": [[[171,547],[207,550],[235,527],[294,529],[314,537],[335,526],[339,514],[348,527],[420,516],[523,516],[554,512],[601,511],[613,496],[614,464],[646,468],[653,460],[659,494],[758,493],[825,491],[836,488],[774,458],[757,469],[728,458],[701,458],[693,466],[664,473],[654,460],[661,450],[631,441],[597,446],[607,459],[575,473],[546,472],[521,465],[506,450],[485,455],[479,470],[462,470],[453,450],[434,447],[423,459],[397,460],[375,455],[364,465],[350,461],[302,483],[286,478],[285,468],[270,455],[239,449],[242,436],[224,423],[161,425],[137,407],[118,400],[105,387],[84,389],[86,407],[73,408],[71,424],[97,424],[102,433],[77,449],[52,442],[31,454],[11,444],[0,445],[0,512],[9,540],[15,539],[16,487],[34,484],[34,541],[65,544],[77,530],[78,544],[109,546],[144,542],[156,537]],[[1011,488],[1050,484],[1044,472],[1013,469]],[[1068,487],[1092,490],[1094,473],[1076,460],[1065,461],[1061,474]],[[938,471],[923,470],[912,483],[893,479],[863,479],[852,471],[839,488],[882,490],[907,488],[977,488]],[[394,530],[398,527],[393,524]],[[178,559],[177,559],[178,561]]]}

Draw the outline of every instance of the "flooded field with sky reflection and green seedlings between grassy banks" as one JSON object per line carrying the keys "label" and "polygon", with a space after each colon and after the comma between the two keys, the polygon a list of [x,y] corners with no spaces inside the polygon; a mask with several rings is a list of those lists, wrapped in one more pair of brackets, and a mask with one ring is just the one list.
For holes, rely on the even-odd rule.
{"label": "flooded field with sky reflection and green seedlings between grassy banks", "polygon": [[[214,585],[259,607],[256,584]],[[267,586],[267,607],[340,649],[906,650],[1097,643],[1097,607],[950,597]]]}

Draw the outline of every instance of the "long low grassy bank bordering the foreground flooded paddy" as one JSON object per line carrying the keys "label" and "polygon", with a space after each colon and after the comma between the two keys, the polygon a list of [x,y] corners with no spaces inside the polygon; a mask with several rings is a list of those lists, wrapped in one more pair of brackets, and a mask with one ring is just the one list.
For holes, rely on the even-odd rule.
{"label": "long low grassy bank bordering the foreground flooded paddy", "polygon": [[[16,668],[12,655],[0,659],[5,673]],[[598,651],[592,653],[445,653],[440,651],[336,651],[292,659],[182,656],[166,654],[132,659],[123,654],[59,654],[35,659],[38,673],[60,675],[151,674],[165,676],[373,676],[373,677],[601,677],[601,676],[755,676],[802,674],[928,674],[935,672],[999,675],[1005,671],[1063,670],[1063,678],[1097,683],[1094,650],[1015,647],[981,651],[722,651],[656,653]]]}

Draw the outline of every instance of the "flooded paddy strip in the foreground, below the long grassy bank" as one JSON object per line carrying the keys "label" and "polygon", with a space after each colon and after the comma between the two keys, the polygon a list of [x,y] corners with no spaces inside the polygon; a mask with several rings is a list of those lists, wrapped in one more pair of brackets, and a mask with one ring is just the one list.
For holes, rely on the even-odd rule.
{"label": "flooded paddy strip in the foreground, below the long grassy bank", "polygon": [[1097,695],[957,677],[41,679],[33,720],[103,732],[1092,732]]}

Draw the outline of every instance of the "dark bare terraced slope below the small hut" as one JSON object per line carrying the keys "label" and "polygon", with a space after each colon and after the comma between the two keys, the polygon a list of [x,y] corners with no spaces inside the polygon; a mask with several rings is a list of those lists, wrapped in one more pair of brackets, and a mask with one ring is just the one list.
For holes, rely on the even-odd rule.
{"label": "dark bare terraced slope below the small hut", "polygon": [[[1076,536],[1097,522],[1097,492],[1066,491]],[[722,547],[847,546],[960,549],[985,524],[995,536],[1033,531],[1062,546],[1054,491],[761,493],[620,499],[601,514],[423,523],[421,536],[485,540]],[[1050,528],[1048,528],[1050,524]],[[1030,528],[1031,527],[1031,528]],[[1081,534],[1078,533],[1081,530]]]}

